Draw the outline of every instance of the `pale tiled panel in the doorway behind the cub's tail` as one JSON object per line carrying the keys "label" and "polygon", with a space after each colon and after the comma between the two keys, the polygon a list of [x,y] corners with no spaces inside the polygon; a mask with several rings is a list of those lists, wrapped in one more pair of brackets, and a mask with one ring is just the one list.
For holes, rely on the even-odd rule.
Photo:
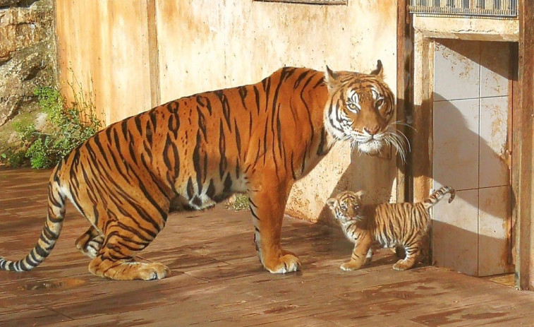
{"label": "pale tiled panel in the doorway behind the cub's tail", "polygon": [[468,275],[514,271],[513,47],[512,42],[435,40],[432,188],[451,186],[456,199],[432,210],[432,258],[437,266]]}

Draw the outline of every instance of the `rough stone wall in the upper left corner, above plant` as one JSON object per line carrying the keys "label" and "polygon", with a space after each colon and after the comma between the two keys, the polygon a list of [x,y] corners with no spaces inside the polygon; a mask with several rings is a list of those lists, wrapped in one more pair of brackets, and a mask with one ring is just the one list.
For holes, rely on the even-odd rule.
{"label": "rough stone wall in the upper left corner, above plant", "polygon": [[0,0],[0,126],[57,85],[54,0]]}

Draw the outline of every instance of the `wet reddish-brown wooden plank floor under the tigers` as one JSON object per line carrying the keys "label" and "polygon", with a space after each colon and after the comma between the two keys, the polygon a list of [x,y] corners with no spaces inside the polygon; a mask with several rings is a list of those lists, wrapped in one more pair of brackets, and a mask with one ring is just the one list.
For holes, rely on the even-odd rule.
{"label": "wet reddish-brown wooden plank floor under the tigers", "polygon": [[[49,171],[1,170],[0,254],[22,258],[44,222]],[[0,272],[0,326],[534,326],[534,292],[442,268],[339,265],[351,244],[338,229],[286,218],[283,244],[298,273],[263,270],[247,211],[219,206],[171,215],[141,256],[172,270],[159,281],[118,282],[87,271],[74,248],[87,222],[69,206],[51,256],[28,273]]]}

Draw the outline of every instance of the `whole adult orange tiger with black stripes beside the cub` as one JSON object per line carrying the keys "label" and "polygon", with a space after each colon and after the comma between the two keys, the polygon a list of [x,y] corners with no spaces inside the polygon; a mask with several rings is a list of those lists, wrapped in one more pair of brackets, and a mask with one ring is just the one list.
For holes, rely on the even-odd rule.
{"label": "whole adult orange tiger with black stripes beside the cub", "polygon": [[298,270],[281,248],[284,208],[293,182],[317,165],[336,141],[363,153],[386,143],[403,151],[389,128],[394,96],[371,74],[284,67],[260,83],[168,102],[99,131],[67,155],[48,184],[41,237],[20,261],[25,271],[46,258],[59,237],[68,198],[91,227],[75,245],[91,273],[116,280],[164,278],[162,263],[139,263],[171,208],[203,209],[246,192],[257,253],[272,273]]}

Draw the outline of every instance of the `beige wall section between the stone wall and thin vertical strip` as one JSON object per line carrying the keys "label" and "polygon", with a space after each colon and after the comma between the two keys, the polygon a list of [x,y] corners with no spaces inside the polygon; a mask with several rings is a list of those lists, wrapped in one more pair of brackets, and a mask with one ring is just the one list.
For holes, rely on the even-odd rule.
{"label": "beige wall section between the stone wall and thin vertical strip", "polygon": [[146,4],[58,0],[56,15],[62,90],[72,71],[106,124],[150,109]]}

